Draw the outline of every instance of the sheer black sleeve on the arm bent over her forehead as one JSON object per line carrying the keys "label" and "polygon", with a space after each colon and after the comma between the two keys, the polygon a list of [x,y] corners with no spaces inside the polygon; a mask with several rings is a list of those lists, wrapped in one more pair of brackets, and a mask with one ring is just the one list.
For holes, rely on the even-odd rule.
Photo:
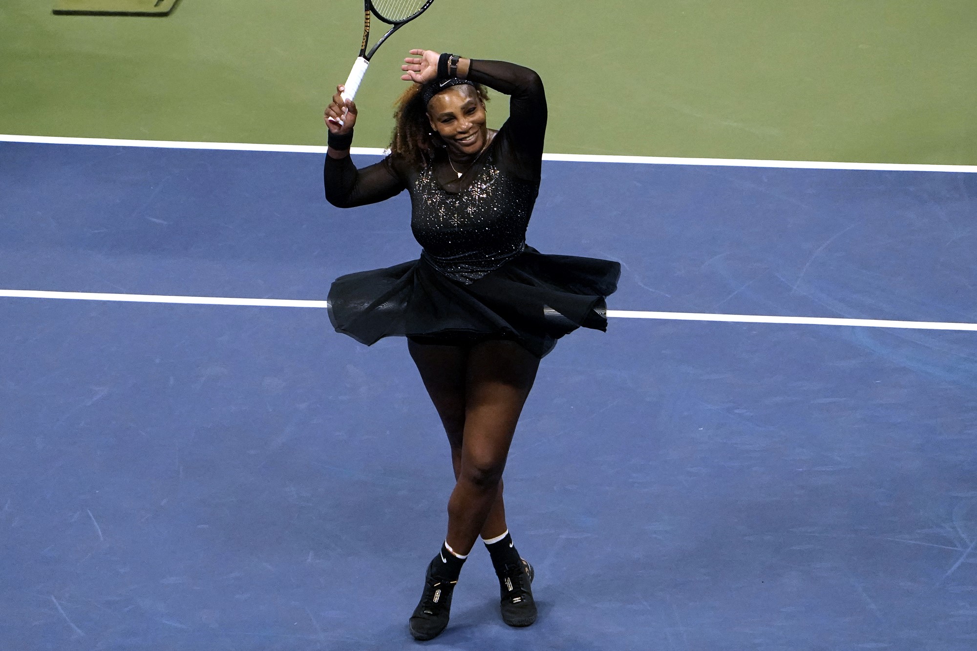
{"label": "sheer black sleeve on the arm bent over her forehead", "polygon": [[505,93],[509,99],[509,119],[496,138],[502,162],[518,176],[538,179],[546,135],[546,94],[543,82],[528,67],[502,61],[471,60],[468,79]]}

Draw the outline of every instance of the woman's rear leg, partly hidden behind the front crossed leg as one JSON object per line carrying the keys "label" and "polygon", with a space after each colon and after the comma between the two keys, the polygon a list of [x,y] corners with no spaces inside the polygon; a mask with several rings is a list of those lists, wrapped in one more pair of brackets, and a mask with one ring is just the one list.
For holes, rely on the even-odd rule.
{"label": "woman's rear leg, partly hidden behind the front crossed leg", "polygon": [[[465,385],[469,349],[461,346],[418,344],[407,340],[407,350],[417,365],[424,387],[445,426],[447,441],[451,447],[451,466],[457,481],[465,429]],[[497,497],[488,511],[482,537],[486,540],[496,538],[507,528],[502,482],[499,481]]]}

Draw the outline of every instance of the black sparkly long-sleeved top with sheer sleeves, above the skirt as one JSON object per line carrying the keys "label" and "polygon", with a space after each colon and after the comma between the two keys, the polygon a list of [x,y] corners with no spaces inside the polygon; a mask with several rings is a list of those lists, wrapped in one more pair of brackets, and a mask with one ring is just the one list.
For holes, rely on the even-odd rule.
{"label": "black sparkly long-sleeved top with sheer sleeves, above the skirt", "polygon": [[509,119],[458,177],[446,153],[423,167],[387,156],[362,169],[326,156],[325,196],[335,206],[382,201],[407,190],[410,228],[422,256],[457,282],[474,282],[516,257],[539,191],[546,99],[539,76],[521,65],[472,61],[468,78],[511,96]]}

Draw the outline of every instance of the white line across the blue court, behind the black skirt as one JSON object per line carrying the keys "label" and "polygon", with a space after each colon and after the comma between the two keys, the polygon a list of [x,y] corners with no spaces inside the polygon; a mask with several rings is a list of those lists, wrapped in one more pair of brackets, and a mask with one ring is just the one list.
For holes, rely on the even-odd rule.
{"label": "white line across the blue court, behind the black skirt", "polygon": [[[131,303],[178,303],[190,305],[245,305],[257,307],[327,308],[328,301],[290,300],[281,298],[225,298],[219,296],[167,296],[157,294],[114,294],[86,291],[42,291],[36,289],[0,289],[0,298],[58,298],[83,301],[125,301]],[[747,314],[700,314],[697,312],[641,312],[608,310],[617,319],[659,319],[667,321],[714,321],[737,324],[849,325],[859,327],[903,327],[922,330],[977,331],[977,324],[955,324],[927,321],[885,321],[878,319],[831,319],[822,317],[773,317]]]}

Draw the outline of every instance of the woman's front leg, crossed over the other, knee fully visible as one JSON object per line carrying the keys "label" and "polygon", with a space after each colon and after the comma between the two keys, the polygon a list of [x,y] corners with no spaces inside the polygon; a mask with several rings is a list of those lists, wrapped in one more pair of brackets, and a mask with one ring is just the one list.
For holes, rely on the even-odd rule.
{"label": "woman's front leg, crossed over the other, knee fully visible", "polygon": [[[512,341],[473,346],[465,376],[465,417],[454,491],[447,502],[447,543],[467,554],[480,532],[505,531],[502,471],[539,360]],[[489,521],[495,502],[501,522]]]}

